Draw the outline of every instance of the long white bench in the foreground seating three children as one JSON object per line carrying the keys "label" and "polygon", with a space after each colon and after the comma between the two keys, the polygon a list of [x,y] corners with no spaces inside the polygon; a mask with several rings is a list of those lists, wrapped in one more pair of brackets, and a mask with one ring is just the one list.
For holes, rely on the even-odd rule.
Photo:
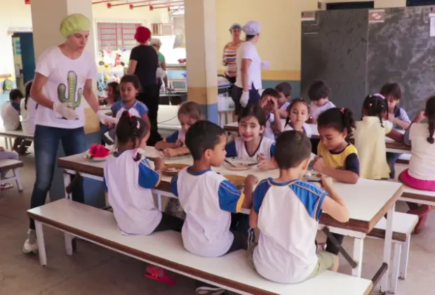
{"label": "long white bench in the foreground seating three children", "polygon": [[121,235],[112,212],[69,199],[30,209],[27,214],[35,220],[41,265],[47,264],[42,230],[42,224],[45,224],[65,232],[68,255],[72,255],[72,237],[81,237],[140,261],[239,294],[368,295],[373,288],[370,280],[330,271],[300,284],[270,282],[250,268],[246,251],[236,251],[219,258],[205,258],[185,251],[178,232],[158,232],[147,237]]}

